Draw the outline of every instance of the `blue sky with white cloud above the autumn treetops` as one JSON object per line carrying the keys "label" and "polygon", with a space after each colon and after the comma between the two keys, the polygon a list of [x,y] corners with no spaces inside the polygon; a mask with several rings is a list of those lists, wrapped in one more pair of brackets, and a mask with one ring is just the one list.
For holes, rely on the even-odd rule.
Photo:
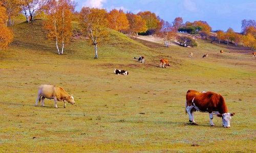
{"label": "blue sky with white cloud above the autumn treetops", "polygon": [[172,23],[176,17],[186,21],[206,21],[213,31],[226,32],[232,28],[241,32],[243,19],[256,20],[255,0],[74,0],[76,10],[82,7],[106,9],[122,9],[124,13],[137,14],[151,11],[164,21]]}

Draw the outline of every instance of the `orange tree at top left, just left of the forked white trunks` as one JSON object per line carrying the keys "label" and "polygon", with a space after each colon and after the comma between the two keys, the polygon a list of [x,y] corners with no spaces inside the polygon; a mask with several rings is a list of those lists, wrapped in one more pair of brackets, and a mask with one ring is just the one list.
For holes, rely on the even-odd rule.
{"label": "orange tree at top left, just left of the forked white trunks", "polygon": [[3,6],[6,8],[9,25],[14,24],[14,18],[16,18],[19,12],[22,10],[19,7],[19,0],[3,0]]}

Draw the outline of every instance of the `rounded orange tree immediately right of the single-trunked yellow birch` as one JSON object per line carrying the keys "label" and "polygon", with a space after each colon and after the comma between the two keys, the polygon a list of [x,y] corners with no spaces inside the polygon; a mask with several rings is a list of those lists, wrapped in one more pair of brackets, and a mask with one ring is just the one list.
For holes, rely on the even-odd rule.
{"label": "rounded orange tree immediately right of the single-trunked yellow birch", "polygon": [[109,28],[119,32],[124,32],[129,28],[129,21],[122,10],[113,9],[108,14]]}

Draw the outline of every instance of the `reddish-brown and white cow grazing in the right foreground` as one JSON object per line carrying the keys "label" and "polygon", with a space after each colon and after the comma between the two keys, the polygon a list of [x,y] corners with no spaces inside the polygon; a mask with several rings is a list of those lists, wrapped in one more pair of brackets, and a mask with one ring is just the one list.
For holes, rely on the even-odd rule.
{"label": "reddish-brown and white cow grazing in the right foreground", "polygon": [[214,92],[199,92],[196,90],[188,90],[186,94],[186,113],[189,115],[189,122],[196,124],[194,113],[208,112],[210,117],[210,125],[214,126],[212,119],[214,113],[218,117],[222,117],[222,125],[230,127],[230,120],[234,113],[228,113],[227,106],[222,95]]}

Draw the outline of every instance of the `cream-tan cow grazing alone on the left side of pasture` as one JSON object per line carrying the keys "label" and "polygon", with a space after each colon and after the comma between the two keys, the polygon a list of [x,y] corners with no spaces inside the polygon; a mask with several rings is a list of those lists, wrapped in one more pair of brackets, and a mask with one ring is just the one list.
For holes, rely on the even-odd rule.
{"label": "cream-tan cow grazing alone on the left side of pasture", "polygon": [[64,108],[66,108],[66,101],[68,101],[68,103],[72,105],[75,104],[74,97],[68,94],[63,88],[59,86],[40,85],[38,89],[38,95],[35,102],[35,106],[37,106],[38,101],[40,103],[40,100],[42,100],[42,106],[45,106],[44,105],[45,98],[54,99],[55,108],[58,108],[57,101],[63,101]]}

